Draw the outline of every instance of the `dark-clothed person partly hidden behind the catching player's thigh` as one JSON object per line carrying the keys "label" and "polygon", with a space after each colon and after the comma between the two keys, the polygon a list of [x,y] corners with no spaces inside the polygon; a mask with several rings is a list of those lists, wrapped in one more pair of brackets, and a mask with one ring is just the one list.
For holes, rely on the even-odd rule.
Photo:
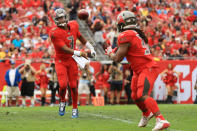
{"label": "dark-clothed person partly hidden behind the catching player's thigh", "polygon": [[124,89],[127,94],[127,104],[131,103],[131,78],[132,72],[128,69],[125,70]]}

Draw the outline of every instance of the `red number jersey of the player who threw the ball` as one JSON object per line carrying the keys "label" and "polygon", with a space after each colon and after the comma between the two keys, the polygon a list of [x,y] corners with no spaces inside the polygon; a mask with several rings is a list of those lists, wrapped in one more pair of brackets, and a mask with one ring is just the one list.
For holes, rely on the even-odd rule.
{"label": "red number jersey of the player who threw the ball", "polygon": [[65,53],[62,47],[67,45],[69,48],[75,50],[76,40],[81,36],[79,25],[76,21],[69,21],[67,26],[68,30],[54,27],[50,32],[50,38],[55,48],[56,59],[67,59],[71,57],[72,54]]}

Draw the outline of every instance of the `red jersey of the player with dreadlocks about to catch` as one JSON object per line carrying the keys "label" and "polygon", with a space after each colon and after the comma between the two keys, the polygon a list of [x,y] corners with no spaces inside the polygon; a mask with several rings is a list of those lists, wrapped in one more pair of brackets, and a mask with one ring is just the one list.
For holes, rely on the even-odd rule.
{"label": "red jersey of the player with dreadlocks about to catch", "polygon": [[118,46],[129,43],[126,54],[127,61],[135,73],[140,73],[144,68],[155,66],[148,44],[134,30],[126,30],[118,35]]}

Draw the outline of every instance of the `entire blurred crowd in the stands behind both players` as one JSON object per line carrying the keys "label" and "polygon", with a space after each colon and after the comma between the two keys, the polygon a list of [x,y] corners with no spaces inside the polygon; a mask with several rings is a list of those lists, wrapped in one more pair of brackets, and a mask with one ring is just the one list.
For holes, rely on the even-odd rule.
{"label": "entire blurred crowd in the stands behind both players", "polygon": [[[0,3],[0,60],[53,58],[49,31],[52,14],[63,8],[58,0],[2,0]],[[71,0],[70,19],[77,10],[89,13],[87,24],[95,42],[116,46],[116,16],[133,11],[146,32],[153,55],[159,59],[195,59],[197,54],[197,3],[195,0]]]}

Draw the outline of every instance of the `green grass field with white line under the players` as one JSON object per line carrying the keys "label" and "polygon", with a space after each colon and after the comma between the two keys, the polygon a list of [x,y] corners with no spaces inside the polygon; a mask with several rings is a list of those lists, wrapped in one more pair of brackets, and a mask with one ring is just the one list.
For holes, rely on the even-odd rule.
{"label": "green grass field with white line under the players", "polygon": [[[168,131],[197,131],[197,105],[159,105],[171,122]],[[80,106],[77,119],[71,107],[64,116],[58,107],[0,107],[0,131],[151,131],[155,118],[146,128],[138,128],[141,113],[135,105]]]}

